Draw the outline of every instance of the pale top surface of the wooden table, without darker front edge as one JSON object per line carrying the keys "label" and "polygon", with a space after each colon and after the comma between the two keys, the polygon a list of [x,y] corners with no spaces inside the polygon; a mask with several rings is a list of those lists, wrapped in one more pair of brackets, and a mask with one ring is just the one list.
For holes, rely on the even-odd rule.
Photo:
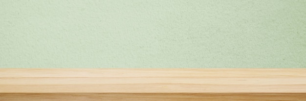
{"label": "pale top surface of the wooden table, without darker front edge", "polygon": [[306,69],[0,69],[0,93],[306,93]]}

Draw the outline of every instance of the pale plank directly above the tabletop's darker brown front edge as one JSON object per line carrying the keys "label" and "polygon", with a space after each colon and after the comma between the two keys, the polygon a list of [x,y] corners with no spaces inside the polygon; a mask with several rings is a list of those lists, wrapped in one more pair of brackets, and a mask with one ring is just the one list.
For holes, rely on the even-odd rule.
{"label": "pale plank directly above the tabletop's darker brown front edge", "polygon": [[0,93],[305,93],[305,85],[0,85]]}

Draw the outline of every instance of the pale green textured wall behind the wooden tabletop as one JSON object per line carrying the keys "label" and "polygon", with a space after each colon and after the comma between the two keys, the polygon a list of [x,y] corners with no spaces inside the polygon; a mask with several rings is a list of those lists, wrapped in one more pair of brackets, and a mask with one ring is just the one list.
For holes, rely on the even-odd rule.
{"label": "pale green textured wall behind the wooden tabletop", "polygon": [[0,0],[0,67],[306,67],[306,0]]}

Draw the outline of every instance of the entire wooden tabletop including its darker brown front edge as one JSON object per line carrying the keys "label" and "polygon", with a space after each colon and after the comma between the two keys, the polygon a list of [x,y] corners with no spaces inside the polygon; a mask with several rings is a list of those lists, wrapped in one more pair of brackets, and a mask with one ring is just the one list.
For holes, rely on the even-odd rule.
{"label": "entire wooden tabletop including its darker brown front edge", "polygon": [[118,101],[306,101],[306,69],[0,69],[0,101],[26,101],[13,96],[31,101],[116,101],[115,96]]}

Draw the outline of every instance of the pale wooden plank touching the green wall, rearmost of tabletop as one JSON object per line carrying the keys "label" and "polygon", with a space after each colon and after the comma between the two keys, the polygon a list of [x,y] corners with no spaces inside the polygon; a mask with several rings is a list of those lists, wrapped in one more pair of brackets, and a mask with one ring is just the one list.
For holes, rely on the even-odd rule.
{"label": "pale wooden plank touching the green wall, rearmost of tabletop", "polygon": [[306,77],[306,68],[1,68],[18,77]]}

